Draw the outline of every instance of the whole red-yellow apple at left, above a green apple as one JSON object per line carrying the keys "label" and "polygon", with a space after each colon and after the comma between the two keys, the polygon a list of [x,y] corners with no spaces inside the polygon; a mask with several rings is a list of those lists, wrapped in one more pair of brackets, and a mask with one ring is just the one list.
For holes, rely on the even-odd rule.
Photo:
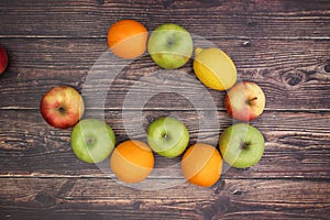
{"label": "whole red-yellow apple at left, above a green apple", "polygon": [[67,129],[75,125],[82,117],[84,100],[73,87],[54,87],[43,96],[40,111],[52,127]]}

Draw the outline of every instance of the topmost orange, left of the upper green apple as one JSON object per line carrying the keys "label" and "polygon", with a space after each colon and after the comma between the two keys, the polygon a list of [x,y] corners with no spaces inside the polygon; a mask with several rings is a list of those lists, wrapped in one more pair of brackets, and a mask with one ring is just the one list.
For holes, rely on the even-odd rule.
{"label": "topmost orange, left of the upper green apple", "polygon": [[136,58],[146,48],[147,30],[138,21],[121,20],[108,32],[108,46],[121,58]]}

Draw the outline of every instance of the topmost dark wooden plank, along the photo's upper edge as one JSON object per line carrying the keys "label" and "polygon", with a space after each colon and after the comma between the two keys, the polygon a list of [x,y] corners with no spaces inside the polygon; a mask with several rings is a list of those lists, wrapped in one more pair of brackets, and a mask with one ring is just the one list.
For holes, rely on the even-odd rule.
{"label": "topmost dark wooden plank, along the photo's upper edge", "polygon": [[[120,19],[154,30],[179,23],[217,37],[329,37],[329,1],[33,1],[0,2],[1,37],[105,37]],[[59,31],[61,30],[61,31]]]}

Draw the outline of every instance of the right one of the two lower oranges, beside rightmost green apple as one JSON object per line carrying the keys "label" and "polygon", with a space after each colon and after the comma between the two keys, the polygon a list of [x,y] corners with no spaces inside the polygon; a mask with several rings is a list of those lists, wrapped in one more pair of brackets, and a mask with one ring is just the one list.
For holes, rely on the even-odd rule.
{"label": "right one of the two lower oranges, beside rightmost green apple", "polygon": [[210,187],[221,176],[222,158],[216,147],[197,143],[190,146],[184,154],[182,170],[190,184]]}

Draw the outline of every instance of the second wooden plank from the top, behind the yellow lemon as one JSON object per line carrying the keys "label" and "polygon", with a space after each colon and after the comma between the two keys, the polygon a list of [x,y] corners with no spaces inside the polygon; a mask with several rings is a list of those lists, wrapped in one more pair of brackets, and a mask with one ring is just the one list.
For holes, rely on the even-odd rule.
{"label": "second wooden plank from the top, behind the yellow lemon", "polygon": [[[242,40],[211,42],[232,56],[240,80],[261,85],[266,109],[330,109],[328,41],[251,40],[248,46]],[[195,77],[191,61],[178,69],[182,75],[160,74],[148,56],[132,63],[113,57],[107,53],[105,40],[6,38],[1,44],[10,56],[9,68],[0,78],[1,109],[37,109],[46,90],[70,85],[84,90],[87,108],[141,109],[141,97],[154,96],[144,109],[210,110],[212,99],[223,110],[226,92],[205,89]],[[206,44],[198,41],[197,45]],[[170,94],[160,92],[160,87]],[[129,91],[135,98],[123,107]],[[194,107],[191,100],[177,95],[180,92],[198,105]],[[105,101],[99,103],[102,96]]]}

